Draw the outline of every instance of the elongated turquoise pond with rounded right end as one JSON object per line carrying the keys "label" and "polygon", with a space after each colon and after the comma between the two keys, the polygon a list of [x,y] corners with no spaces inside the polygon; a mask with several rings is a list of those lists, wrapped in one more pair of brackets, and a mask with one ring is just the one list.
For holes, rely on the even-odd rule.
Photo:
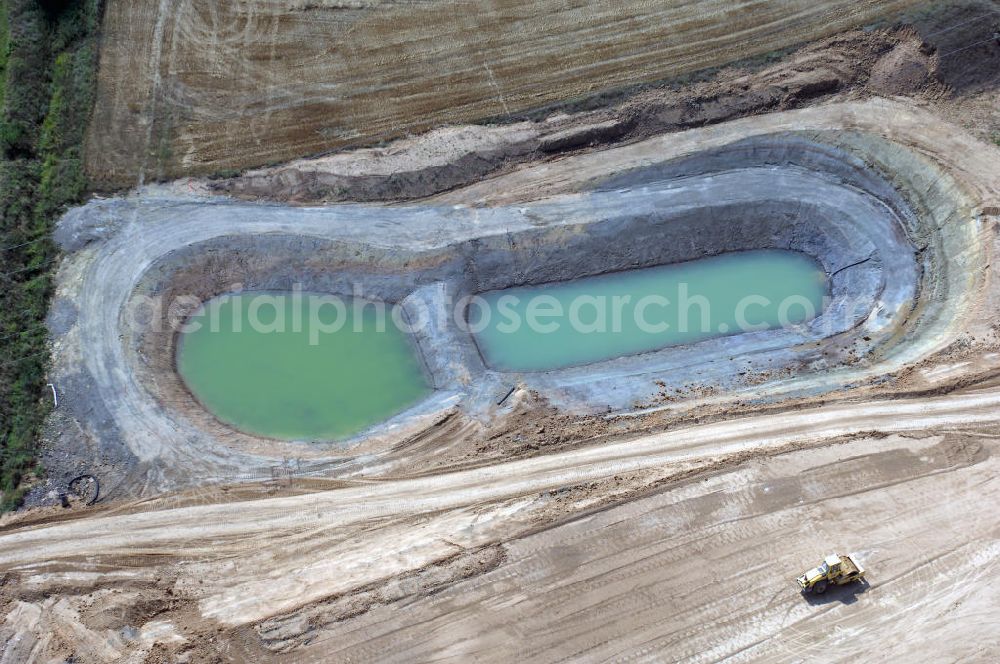
{"label": "elongated turquoise pond with rounded right end", "polygon": [[490,291],[467,320],[487,365],[543,371],[802,323],[826,292],[805,254],[743,251]]}

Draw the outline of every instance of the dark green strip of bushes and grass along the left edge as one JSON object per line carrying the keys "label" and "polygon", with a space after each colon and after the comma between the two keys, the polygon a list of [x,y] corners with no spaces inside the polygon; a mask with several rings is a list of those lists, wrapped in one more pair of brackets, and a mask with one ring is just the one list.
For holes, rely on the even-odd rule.
{"label": "dark green strip of bushes and grass along the left edge", "polygon": [[61,212],[86,189],[82,146],[93,106],[100,0],[0,6],[0,510],[40,473],[44,326]]}

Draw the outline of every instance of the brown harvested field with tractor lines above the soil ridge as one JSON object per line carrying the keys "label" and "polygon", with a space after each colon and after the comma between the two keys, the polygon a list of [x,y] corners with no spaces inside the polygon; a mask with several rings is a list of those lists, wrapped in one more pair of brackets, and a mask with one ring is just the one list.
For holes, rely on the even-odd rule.
{"label": "brown harvested field with tractor lines above the soil ridge", "polygon": [[87,171],[132,186],[508,120],[919,4],[112,0]]}

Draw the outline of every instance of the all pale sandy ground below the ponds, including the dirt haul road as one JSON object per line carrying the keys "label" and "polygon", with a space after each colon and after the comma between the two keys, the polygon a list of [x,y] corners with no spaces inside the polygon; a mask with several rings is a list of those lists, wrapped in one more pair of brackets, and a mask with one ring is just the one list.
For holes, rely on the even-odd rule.
{"label": "all pale sandy ground below the ponds, including the dirt haul road", "polygon": [[[700,661],[755,652],[794,661],[798,648],[815,653],[824,642],[844,659],[875,643],[886,659],[982,654],[996,642],[955,646],[933,635],[949,613],[969,616],[960,629],[974,634],[996,608],[976,583],[988,583],[1000,554],[991,507],[1000,491],[998,406],[992,388],[840,405],[421,479],[48,527],[11,523],[0,565],[13,602],[6,626],[22,645],[8,650],[46,652],[56,640],[35,639],[68,621],[60,629],[75,624],[102,643],[155,622],[192,653],[231,640],[242,643],[226,645],[236,658],[307,648],[292,650],[292,661],[463,653]],[[884,437],[909,432],[917,435]],[[585,516],[658,483],[649,498]],[[419,596],[414,573],[497,543],[504,562],[495,571],[416,602],[392,601],[409,594],[405,583],[402,592],[386,587],[392,577],[409,578]],[[828,548],[858,553],[872,587],[819,603],[801,598],[792,577]],[[355,611],[363,618],[334,612],[324,625],[317,602],[373,586],[378,601]],[[126,612],[124,623],[95,628],[88,611],[108,591],[170,601],[155,621]],[[267,622],[274,616],[279,624]],[[915,639],[910,621],[931,629]],[[266,639],[237,639],[253,624]],[[212,625],[222,632],[206,643],[199,635]],[[412,632],[400,639],[400,630]],[[119,639],[119,654],[142,650],[138,637]],[[314,639],[326,645],[310,651]],[[185,650],[180,640],[169,644]],[[101,661],[87,642],[62,647]]]}

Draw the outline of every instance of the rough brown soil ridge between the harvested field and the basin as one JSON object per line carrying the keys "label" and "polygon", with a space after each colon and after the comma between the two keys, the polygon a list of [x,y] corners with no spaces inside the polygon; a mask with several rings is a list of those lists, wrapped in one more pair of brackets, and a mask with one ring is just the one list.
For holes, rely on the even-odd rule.
{"label": "rough brown soil ridge between the harvested field and the basin", "polygon": [[623,93],[623,101],[598,109],[553,110],[508,125],[436,129],[387,147],[297,160],[207,186],[242,198],[290,203],[423,198],[518,164],[807,106],[834,94],[940,96],[934,58],[921,51],[922,44],[909,27],[848,32],[774,64],[728,66],[685,85]]}

